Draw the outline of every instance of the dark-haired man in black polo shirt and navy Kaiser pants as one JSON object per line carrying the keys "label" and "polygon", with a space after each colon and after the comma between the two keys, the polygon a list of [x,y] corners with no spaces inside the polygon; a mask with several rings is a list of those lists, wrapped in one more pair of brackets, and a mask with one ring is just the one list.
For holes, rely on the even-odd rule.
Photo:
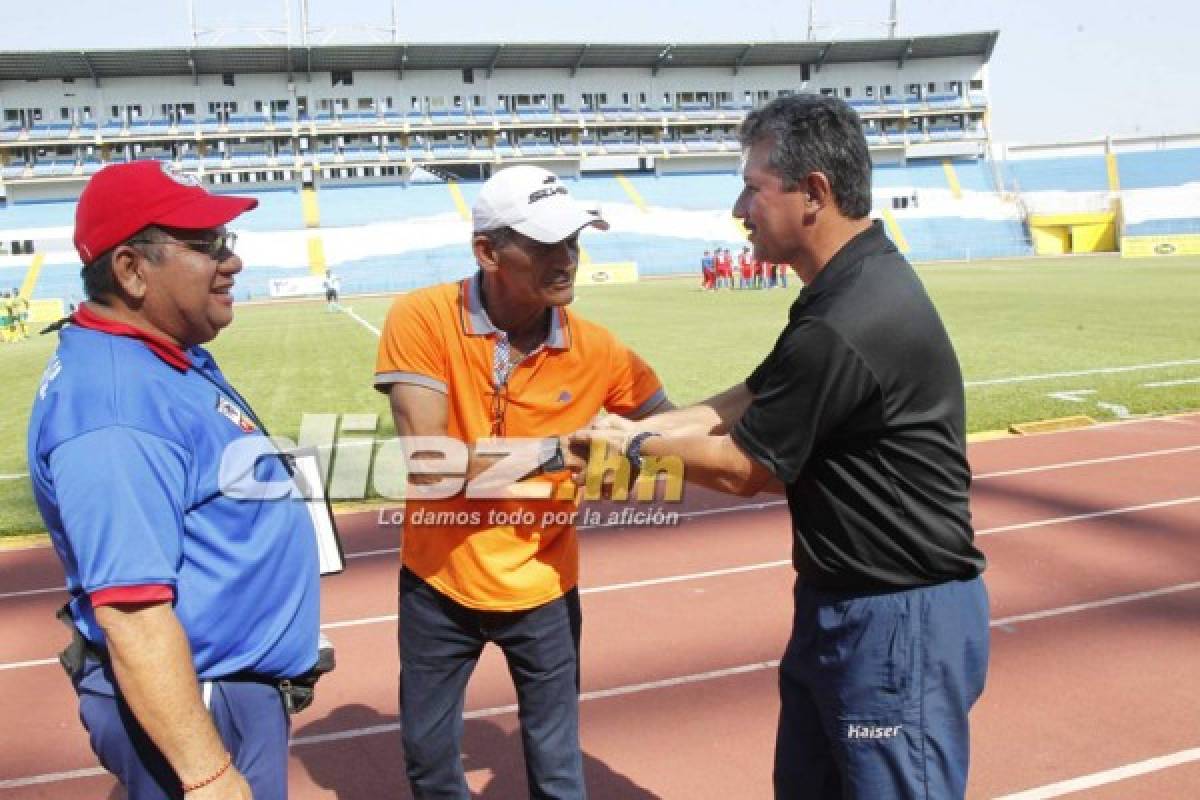
{"label": "dark-haired man in black polo shirt and navy Kaiser pants", "polygon": [[776,798],[961,798],[988,664],[962,375],[920,281],[869,218],[871,162],[835,98],[742,127],[733,215],[804,290],[744,384],[604,438],[635,467],[787,495],[796,619],[780,666]]}

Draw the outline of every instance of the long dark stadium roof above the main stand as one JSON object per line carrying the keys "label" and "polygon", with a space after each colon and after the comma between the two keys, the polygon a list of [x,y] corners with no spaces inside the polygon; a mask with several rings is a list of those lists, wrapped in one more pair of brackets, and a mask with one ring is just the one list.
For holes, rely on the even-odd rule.
{"label": "long dark stadium roof above the main stand", "polygon": [[948,56],[991,58],[998,31],[898,38],[724,43],[394,43],[0,50],[0,80],[200,76],[332,70],[535,70],[826,65]]}

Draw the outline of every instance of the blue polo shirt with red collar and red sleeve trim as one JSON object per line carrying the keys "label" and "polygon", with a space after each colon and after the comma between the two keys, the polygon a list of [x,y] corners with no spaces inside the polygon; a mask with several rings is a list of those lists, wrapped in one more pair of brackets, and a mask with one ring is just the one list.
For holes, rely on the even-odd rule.
{"label": "blue polo shirt with red collar and red sleeve trim", "polygon": [[[169,587],[202,680],[302,674],[319,627],[308,512],[296,499],[221,492],[226,447],[264,434],[206,350],[172,356],[72,325],[42,378],[30,476],[74,622],[103,645],[90,595]],[[290,480],[274,457],[256,477]]]}

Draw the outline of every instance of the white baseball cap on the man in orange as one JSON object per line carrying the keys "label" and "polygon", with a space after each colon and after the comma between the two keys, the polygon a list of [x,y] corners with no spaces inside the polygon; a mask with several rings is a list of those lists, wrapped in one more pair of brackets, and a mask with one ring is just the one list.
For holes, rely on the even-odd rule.
{"label": "white baseball cap on the man in orange", "polygon": [[572,199],[558,175],[526,164],[502,169],[487,179],[470,217],[475,233],[512,228],[547,245],[588,225],[608,229],[600,209]]}

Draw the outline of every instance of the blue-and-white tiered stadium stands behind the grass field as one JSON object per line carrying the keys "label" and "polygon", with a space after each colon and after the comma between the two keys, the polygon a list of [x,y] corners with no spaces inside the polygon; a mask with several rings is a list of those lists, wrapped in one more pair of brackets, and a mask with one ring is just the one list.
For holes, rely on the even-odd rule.
{"label": "blue-and-white tiered stadium stands behind the grass field", "polygon": [[[996,37],[868,40],[832,50],[832,43],[808,41],[695,50],[505,44],[487,46],[482,55],[428,44],[409,48],[402,83],[390,50],[317,46],[294,71],[322,77],[296,82],[299,90],[323,90],[284,101],[294,115],[272,112],[278,104],[264,94],[272,82],[288,91],[288,76],[272,72],[295,55],[286,48],[130,50],[106,60],[107,72],[96,76],[72,72],[83,68],[78,53],[32,60],[0,53],[0,241],[5,231],[70,225],[73,206],[44,200],[78,192],[104,163],[152,157],[199,174],[218,191],[259,199],[258,210],[238,223],[250,234],[239,297],[262,296],[271,277],[306,270],[302,245],[311,229],[325,237],[343,291],[407,289],[473,269],[462,203],[469,207],[478,180],[491,170],[534,161],[618,221],[612,231],[586,237],[593,261],[636,261],[643,275],[690,272],[704,247],[740,242],[728,217],[742,190],[738,122],[802,79],[809,91],[846,97],[863,115],[880,162],[875,213],[916,260],[1030,254],[1025,219],[1042,194],[1088,196],[1096,206],[1088,210],[1097,212],[1109,207],[1116,186],[1128,196],[1200,181],[1200,137],[994,146],[984,82]],[[824,62],[810,72],[818,58]],[[511,94],[491,92],[492,80],[468,80],[479,59],[491,65],[494,85]],[[671,70],[659,73],[665,59]],[[617,64],[644,67],[648,77],[630,79],[636,70],[613,70]],[[714,66],[733,67],[720,91],[710,85]],[[329,90],[335,68],[354,72],[353,89]],[[193,83],[227,72],[256,78],[235,89],[197,90]],[[110,108],[113,119],[91,121],[90,110],[68,109],[72,120],[86,121],[42,121],[60,116],[61,98],[46,94],[46,79],[64,77],[83,78],[78,102],[101,109],[101,118]],[[100,102],[88,96],[89,78],[119,80],[106,82]],[[199,114],[182,113],[184,102],[161,103],[172,82]],[[587,94],[577,94],[581,84]],[[1196,233],[1200,210],[1181,211],[1175,197],[1135,200],[1124,233]],[[713,240],[716,230],[732,241]],[[253,234],[272,234],[271,246],[256,245]],[[44,296],[78,294],[78,265],[65,253],[47,265],[38,288]]]}

